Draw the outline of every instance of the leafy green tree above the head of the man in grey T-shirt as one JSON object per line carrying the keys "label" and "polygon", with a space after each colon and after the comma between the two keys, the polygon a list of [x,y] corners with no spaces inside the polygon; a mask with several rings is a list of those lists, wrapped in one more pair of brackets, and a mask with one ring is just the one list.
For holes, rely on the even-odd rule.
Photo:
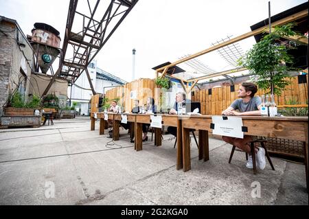
{"label": "leafy green tree above the head of the man in grey T-shirt", "polygon": [[[293,57],[288,54],[288,47],[280,43],[280,38],[294,36],[294,23],[275,27],[271,34],[265,35],[262,40],[250,49],[244,58],[238,60],[238,65],[246,67],[257,77],[253,78],[260,89],[280,95],[286,85],[290,84],[284,78],[289,77],[288,71],[293,70]],[[288,66],[289,67],[288,67]]]}

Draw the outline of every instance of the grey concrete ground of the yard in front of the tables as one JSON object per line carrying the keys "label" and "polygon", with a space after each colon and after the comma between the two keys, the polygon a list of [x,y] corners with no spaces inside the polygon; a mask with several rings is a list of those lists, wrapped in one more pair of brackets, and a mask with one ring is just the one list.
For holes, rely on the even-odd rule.
{"label": "grey concrete ground of the yard in front of the tables", "polygon": [[[0,205],[308,205],[305,166],[272,158],[253,175],[243,152],[209,139],[209,161],[176,170],[171,135],[156,147],[148,134],[136,152],[127,131],[111,144],[89,117],[54,126],[0,130]],[[108,143],[109,142],[109,143]]]}

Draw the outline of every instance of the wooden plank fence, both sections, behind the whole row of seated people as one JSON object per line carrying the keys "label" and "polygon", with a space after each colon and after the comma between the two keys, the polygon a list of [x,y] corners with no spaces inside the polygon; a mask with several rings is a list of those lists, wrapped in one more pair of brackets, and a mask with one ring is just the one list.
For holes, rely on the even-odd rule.
{"label": "wooden plank fence, both sections, behind the whole row of seated people", "polygon": [[[298,83],[297,76],[290,78],[291,84],[286,87],[282,95],[275,96],[277,105],[286,104],[287,100],[294,98],[299,104],[308,104],[308,74],[306,75],[306,83]],[[230,86],[217,87],[209,89],[194,91],[192,93],[192,101],[201,102],[201,113],[203,115],[220,115],[231,103],[236,100],[237,91],[240,84],[235,84],[234,91],[231,92]],[[133,91],[133,93],[131,93]],[[106,91],[105,97],[108,100],[119,98],[119,105],[124,106],[125,111],[130,111],[133,108],[133,100],[131,94],[136,92],[136,98],[139,100],[139,105],[144,106],[148,97],[154,97],[155,103],[158,104],[159,91],[155,89],[155,81],[148,78],[141,78],[133,82],[127,83],[124,87],[115,87]],[[255,95],[263,95],[263,90],[258,90]]]}

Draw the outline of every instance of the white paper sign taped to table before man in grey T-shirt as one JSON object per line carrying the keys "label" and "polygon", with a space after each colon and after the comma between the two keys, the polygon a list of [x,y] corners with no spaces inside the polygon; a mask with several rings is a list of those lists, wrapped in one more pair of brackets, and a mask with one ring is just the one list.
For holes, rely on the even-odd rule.
{"label": "white paper sign taped to table before man in grey T-shirt", "polygon": [[225,116],[213,116],[212,123],[214,124],[214,135],[222,135],[229,137],[244,138],[244,132],[242,132],[242,118],[241,117],[226,117]]}

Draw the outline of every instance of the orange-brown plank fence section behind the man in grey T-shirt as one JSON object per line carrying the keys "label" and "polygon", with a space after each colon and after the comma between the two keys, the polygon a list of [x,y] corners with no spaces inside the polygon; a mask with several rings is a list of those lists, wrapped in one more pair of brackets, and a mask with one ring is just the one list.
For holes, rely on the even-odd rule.
{"label": "orange-brown plank fence section behind the man in grey T-shirt", "polygon": [[[294,98],[299,104],[308,104],[308,74],[306,75],[306,83],[298,83],[298,78],[293,77],[289,80],[291,84],[286,86],[282,95],[275,95],[275,102],[277,105],[284,105],[286,101]],[[201,102],[201,111],[203,115],[220,115],[231,103],[238,99],[237,91],[240,84],[235,84],[235,89],[231,92],[231,87],[217,87],[209,89],[194,91],[192,93],[192,101]],[[255,95],[263,95],[264,91],[259,89]]]}

